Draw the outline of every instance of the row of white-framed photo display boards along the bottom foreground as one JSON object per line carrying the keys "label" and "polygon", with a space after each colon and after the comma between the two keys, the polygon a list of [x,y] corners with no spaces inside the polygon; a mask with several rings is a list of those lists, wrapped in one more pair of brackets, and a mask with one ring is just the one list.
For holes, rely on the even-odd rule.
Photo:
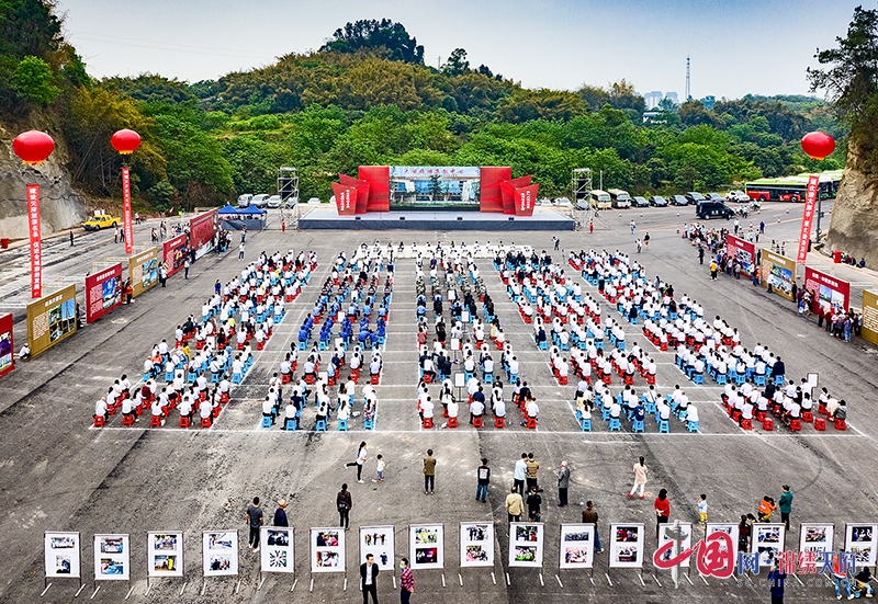
{"label": "row of white-framed photo display boards along the bottom foreground", "polygon": [[[665,525],[666,529],[672,525]],[[679,533],[676,528],[679,528]],[[680,550],[693,546],[691,523],[680,522],[674,531],[663,531],[657,549],[672,540],[679,543]],[[741,563],[738,552],[738,524],[707,523],[703,537],[714,533],[728,535],[724,550],[728,559]],[[295,548],[293,527],[262,526],[259,552],[261,572],[294,572]],[[652,531],[650,531],[652,533]],[[667,533],[673,533],[668,535]],[[311,572],[346,572],[346,532],[341,527],[317,527],[309,529]],[[781,523],[757,523],[753,525],[748,569],[756,572],[767,569],[773,557],[784,551],[786,531]],[[545,547],[543,523],[518,523],[509,525],[508,567],[543,567]],[[878,524],[846,523],[844,551],[851,554],[857,566],[874,566],[878,545]],[[413,569],[444,569],[444,526],[442,524],[413,524],[408,526],[408,559]],[[381,570],[393,572],[396,565],[395,529],[392,525],[363,526],[359,529],[359,561],[368,554],[374,556]],[[460,568],[494,567],[495,539],[492,522],[460,523]],[[607,542],[605,542],[607,543]],[[646,529],[642,523],[610,524],[608,539],[609,568],[642,569],[644,566]],[[801,525],[798,552],[813,552],[811,559],[823,563],[828,552],[834,552],[835,526],[831,523],[804,523]],[[183,577],[183,532],[156,531],[147,533],[147,577]],[[667,548],[665,548],[667,549]],[[757,557],[754,565],[752,558]],[[653,557],[653,563],[656,556]],[[668,560],[671,551],[661,555]],[[127,534],[94,535],[94,579],[131,579],[131,538]],[[562,524],[559,536],[560,569],[590,569],[595,563],[595,525]],[[359,562],[358,562],[359,563]],[[732,562],[734,565],[734,562]],[[204,577],[238,574],[238,532],[204,531],[202,534],[202,572]],[[689,566],[687,558],[682,567]],[[755,566],[755,569],[754,569]],[[81,550],[79,533],[45,533],[46,578],[81,579]],[[819,568],[819,567],[818,567]],[[742,569],[739,569],[742,571]]]}

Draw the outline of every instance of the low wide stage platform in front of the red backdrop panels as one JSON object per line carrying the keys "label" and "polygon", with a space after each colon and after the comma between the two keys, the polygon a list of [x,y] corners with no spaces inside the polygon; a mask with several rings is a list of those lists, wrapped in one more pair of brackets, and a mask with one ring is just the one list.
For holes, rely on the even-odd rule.
{"label": "low wide stage platform in front of the red backdrop panels", "polygon": [[573,230],[575,221],[548,207],[533,216],[507,216],[481,212],[370,212],[339,216],[333,206],[315,207],[299,219],[301,230]]}

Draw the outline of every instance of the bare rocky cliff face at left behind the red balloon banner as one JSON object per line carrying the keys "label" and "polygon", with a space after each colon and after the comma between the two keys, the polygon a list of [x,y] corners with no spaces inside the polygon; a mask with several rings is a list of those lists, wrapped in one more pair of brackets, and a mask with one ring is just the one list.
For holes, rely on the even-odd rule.
{"label": "bare rocky cliff face at left behind the red balloon banner", "polygon": [[74,190],[64,168],[64,149],[56,138],[55,152],[36,168],[25,167],[12,152],[11,133],[0,125],[0,238],[27,237],[25,186],[40,185],[40,215],[43,235],[72,227],[86,219],[82,197]]}

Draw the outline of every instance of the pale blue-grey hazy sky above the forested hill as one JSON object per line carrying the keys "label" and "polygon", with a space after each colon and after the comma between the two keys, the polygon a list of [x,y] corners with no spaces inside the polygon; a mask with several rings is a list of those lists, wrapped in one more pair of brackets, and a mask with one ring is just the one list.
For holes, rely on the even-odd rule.
{"label": "pale blue-grey hazy sky above the forested hill", "polygon": [[59,0],[89,73],[195,82],[317,49],[348,21],[405,25],[436,66],[454,48],[527,88],[607,88],[738,99],[807,94],[817,48],[835,46],[842,0]]}

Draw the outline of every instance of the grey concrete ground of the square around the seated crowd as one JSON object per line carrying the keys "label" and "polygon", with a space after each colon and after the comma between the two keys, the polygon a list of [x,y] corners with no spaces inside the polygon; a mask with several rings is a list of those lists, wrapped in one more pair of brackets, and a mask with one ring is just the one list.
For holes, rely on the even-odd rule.
{"label": "grey concrete ground of the square around the seated crowd", "polygon": [[[765,238],[791,241],[798,233],[797,215],[801,206],[772,205],[762,215],[767,226]],[[790,209],[789,214],[787,210]],[[180,430],[175,421],[165,428],[148,429],[145,420],[135,429],[121,428],[115,417],[103,430],[91,426],[94,400],[114,378],[123,373],[138,375],[145,355],[154,342],[171,338],[175,327],[190,314],[198,314],[203,298],[215,280],[228,281],[240,264],[233,253],[211,254],[198,261],[188,281],[182,274],[169,280],[167,288],[156,287],[132,306],[123,306],[40,357],[19,364],[0,380],[0,601],[74,602],[78,590],[75,580],[54,580],[43,591],[43,533],[78,531],[82,545],[82,575],[88,583],[79,600],[91,597],[94,586],[92,536],[97,533],[128,533],[132,543],[132,581],[102,582],[94,602],[357,602],[358,539],[360,526],[392,524],[396,531],[396,556],[408,556],[408,525],[442,523],[444,570],[416,572],[414,602],[458,602],[475,597],[484,604],[525,603],[539,600],[545,604],[573,599],[604,602],[716,602],[767,601],[765,572],[755,581],[736,582],[700,579],[693,571],[690,581],[682,579],[675,590],[668,571],[657,571],[650,557],[654,549],[652,499],[661,488],[669,492],[672,520],[694,521],[699,493],[708,494],[711,521],[736,521],[742,513],[755,513],[764,494],[777,498],[780,485],[789,483],[796,499],[792,532],[788,549],[797,549],[801,522],[834,522],[835,549],[843,546],[845,522],[876,522],[878,492],[873,476],[878,422],[868,411],[878,394],[874,371],[874,346],[862,340],[844,343],[799,318],[793,306],[779,296],[753,287],[746,281],[729,277],[711,282],[706,266],[699,266],[695,249],[680,239],[677,226],[690,219],[691,208],[650,208],[604,214],[608,229],[594,233],[563,233],[563,249],[620,249],[634,254],[634,241],[628,223],[634,217],[638,236],[645,230],[651,244],[638,255],[649,276],[661,275],[674,284],[678,295],[687,293],[705,307],[706,315],[722,315],[742,333],[745,345],[757,340],[778,351],[787,363],[787,374],[799,378],[819,372],[820,385],[828,386],[849,404],[849,430],[844,433],[818,433],[806,425],[800,434],[785,428],[766,433],[745,433],[722,412],[720,389],[708,383],[694,386],[673,364],[672,353],[658,353],[658,388],[662,392],[675,384],[699,404],[701,432],[689,434],[674,423],[671,434],[657,434],[648,422],[648,433],[608,433],[606,424],[594,421],[595,431],[579,432],[574,421],[574,385],[560,387],[548,366],[548,353],[530,342],[530,327],[521,322],[515,306],[504,293],[502,282],[489,260],[477,262],[488,293],[495,299],[497,315],[521,358],[521,376],[533,387],[540,402],[541,419],[537,431],[527,431],[510,422],[504,431],[487,426],[475,431],[465,422],[458,430],[424,431],[415,412],[415,278],[414,261],[397,264],[396,282],[387,328],[385,369],[376,387],[380,398],[376,430],[364,432],[354,422],[347,433],[331,430],[313,432],[314,407],[303,412],[304,430],[295,433],[277,426],[259,429],[260,408],[269,376],[277,371],[282,351],[289,347],[297,326],[311,309],[319,283],[326,278],[330,261],[340,250],[349,254],[361,242],[384,233],[294,232],[279,230],[251,232],[248,255],[258,250],[315,250],[317,267],[303,295],[288,307],[288,316],[278,327],[266,350],[256,354],[254,371],[243,386],[233,390],[233,400],[211,430]],[[777,221],[780,218],[780,221]],[[717,221],[717,227],[722,223]],[[746,224],[746,223],[745,223]],[[148,228],[138,228],[138,238]],[[479,240],[495,241],[492,233],[405,232],[394,233],[394,243]],[[549,249],[550,233],[516,235],[516,243]],[[237,237],[235,238],[237,241]],[[508,241],[507,241],[508,242]],[[762,242],[767,242],[763,239]],[[787,254],[792,246],[788,243]],[[66,239],[46,244],[46,290],[52,284],[65,284],[81,277],[93,262],[122,257],[121,244],[113,244],[112,232],[83,235],[69,248]],[[559,261],[566,252],[555,252]],[[26,339],[22,303],[27,296],[26,247],[0,253],[2,308],[15,311],[16,342]],[[826,263],[811,254],[809,262]],[[835,267],[845,278],[851,272],[860,290],[875,282],[870,271]],[[570,272],[570,271],[569,271]],[[579,278],[579,277],[575,277]],[[81,287],[80,287],[81,289]],[[594,293],[585,285],[584,289]],[[81,292],[80,292],[81,296]],[[481,309],[480,309],[481,310]],[[605,311],[607,308],[605,308]],[[638,328],[626,326],[629,342],[643,339]],[[18,346],[16,346],[18,347]],[[645,344],[648,351],[654,350]],[[362,385],[361,378],[360,384]],[[638,381],[638,386],[641,383]],[[612,385],[619,388],[618,379]],[[358,398],[360,390],[358,389]],[[510,418],[518,412],[510,409]],[[335,424],[333,423],[333,426]],[[369,443],[370,457],[358,485],[352,461],[360,441]],[[431,447],[438,459],[436,495],[421,490],[421,457]],[[537,569],[508,568],[508,533],[504,499],[511,483],[513,465],[521,452],[533,452],[541,464],[545,548],[542,572]],[[381,453],[387,463],[386,480],[371,482],[374,456]],[[629,500],[631,466],[638,456],[650,468],[648,497]],[[487,457],[493,469],[488,502],[474,499],[475,468]],[[572,469],[571,505],[556,506],[552,471],[567,460]],[[348,533],[345,574],[309,572],[308,528],[331,526],[337,522],[335,493],[341,482],[351,487],[353,509]],[[288,513],[295,527],[295,574],[264,575],[261,589],[258,555],[241,545],[240,573],[237,578],[202,577],[201,533],[207,529],[238,529],[246,542],[244,510],[254,495],[266,502],[266,512],[274,501],[290,501]],[[637,570],[608,569],[608,554],[597,555],[593,577],[585,571],[559,571],[559,525],[581,520],[581,502],[594,500],[600,513],[599,531],[608,548],[609,523],[632,522],[646,526],[646,556],[642,575]],[[489,569],[459,568],[459,523],[495,523],[496,562]],[[185,536],[185,577],[154,581],[148,595],[146,583],[146,532],[182,529]],[[700,531],[696,532],[696,536]],[[509,581],[506,581],[508,572]],[[379,578],[382,601],[398,597],[390,573]],[[398,573],[397,573],[398,574]],[[312,590],[313,578],[313,591]],[[462,583],[462,585],[461,585]],[[291,588],[292,592],[291,592]],[[132,590],[131,593],[128,590]],[[202,592],[204,595],[201,595]],[[800,585],[790,579],[788,601],[818,602],[834,596],[821,581],[806,580]]]}

